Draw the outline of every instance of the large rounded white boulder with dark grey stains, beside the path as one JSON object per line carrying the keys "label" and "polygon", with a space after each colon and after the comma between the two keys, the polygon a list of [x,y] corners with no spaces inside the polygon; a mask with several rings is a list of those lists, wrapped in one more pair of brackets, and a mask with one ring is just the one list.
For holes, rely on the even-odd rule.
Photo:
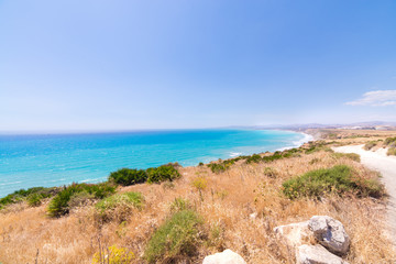
{"label": "large rounded white boulder with dark grey stains, beside the path", "polygon": [[315,238],[330,252],[344,255],[350,246],[350,238],[342,223],[328,216],[315,216],[309,220],[309,229]]}

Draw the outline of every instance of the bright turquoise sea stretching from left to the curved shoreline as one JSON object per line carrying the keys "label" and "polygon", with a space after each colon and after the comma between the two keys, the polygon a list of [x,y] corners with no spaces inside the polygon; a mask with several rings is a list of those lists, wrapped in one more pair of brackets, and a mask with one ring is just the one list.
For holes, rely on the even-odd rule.
{"label": "bright turquoise sea stretching from left to the curved shoreline", "polygon": [[0,197],[34,186],[105,180],[121,167],[183,166],[293,147],[305,134],[263,130],[0,135]]}

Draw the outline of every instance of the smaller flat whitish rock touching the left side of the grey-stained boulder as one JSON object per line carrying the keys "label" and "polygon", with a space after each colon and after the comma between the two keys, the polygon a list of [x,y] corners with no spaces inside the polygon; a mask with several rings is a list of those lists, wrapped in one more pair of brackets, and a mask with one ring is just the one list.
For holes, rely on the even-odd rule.
{"label": "smaller flat whitish rock touching the left side of the grey-stained boulder", "polygon": [[284,239],[288,246],[299,246],[310,240],[312,231],[308,228],[308,221],[290,223],[274,228],[278,239]]}

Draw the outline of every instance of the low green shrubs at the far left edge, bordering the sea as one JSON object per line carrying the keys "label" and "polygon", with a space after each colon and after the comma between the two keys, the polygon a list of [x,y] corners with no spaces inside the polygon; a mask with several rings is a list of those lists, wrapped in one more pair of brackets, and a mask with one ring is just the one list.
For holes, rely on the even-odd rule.
{"label": "low green shrubs at the far left edge, bordering the sea", "polygon": [[0,209],[8,205],[26,200],[30,206],[40,206],[41,200],[52,197],[58,193],[58,188],[33,187],[29,189],[16,190],[0,199]]}

